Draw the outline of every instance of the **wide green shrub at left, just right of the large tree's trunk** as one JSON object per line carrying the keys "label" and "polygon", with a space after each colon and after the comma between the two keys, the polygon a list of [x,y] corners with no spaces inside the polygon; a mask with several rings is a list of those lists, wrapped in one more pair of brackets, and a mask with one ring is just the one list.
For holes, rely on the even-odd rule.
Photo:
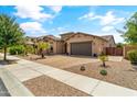
{"label": "wide green shrub at left, just right of the large tree's trunk", "polygon": [[21,55],[24,54],[24,46],[23,45],[18,45],[18,46],[12,46],[9,48],[10,55]]}

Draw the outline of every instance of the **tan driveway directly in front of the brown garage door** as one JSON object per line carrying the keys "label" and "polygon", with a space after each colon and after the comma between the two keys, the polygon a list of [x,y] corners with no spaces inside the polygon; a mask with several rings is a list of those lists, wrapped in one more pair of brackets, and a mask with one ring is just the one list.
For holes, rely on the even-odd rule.
{"label": "tan driveway directly in front of the brown garage door", "polygon": [[54,55],[48,56],[45,59],[35,60],[41,64],[45,64],[57,68],[68,68],[72,66],[83,65],[87,63],[97,63],[97,58],[92,58],[87,56],[65,56],[65,55]]}

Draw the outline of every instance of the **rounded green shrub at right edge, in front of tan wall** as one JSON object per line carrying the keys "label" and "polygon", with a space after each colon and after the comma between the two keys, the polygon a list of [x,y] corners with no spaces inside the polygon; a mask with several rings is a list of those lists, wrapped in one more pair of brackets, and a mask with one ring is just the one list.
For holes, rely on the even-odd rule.
{"label": "rounded green shrub at right edge, in front of tan wall", "polygon": [[137,50],[136,49],[127,52],[127,56],[131,64],[137,65]]}

